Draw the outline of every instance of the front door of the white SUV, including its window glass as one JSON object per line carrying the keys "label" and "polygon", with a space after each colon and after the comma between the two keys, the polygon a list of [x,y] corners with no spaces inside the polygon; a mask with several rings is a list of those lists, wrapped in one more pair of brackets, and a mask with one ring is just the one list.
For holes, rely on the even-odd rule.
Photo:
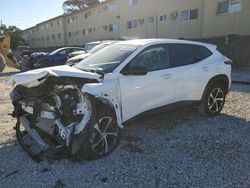
{"label": "front door of the white SUV, including its window glass", "polygon": [[174,100],[176,77],[174,71],[169,69],[167,45],[146,48],[124,69],[130,72],[137,65],[146,67],[148,73],[119,75],[123,121]]}

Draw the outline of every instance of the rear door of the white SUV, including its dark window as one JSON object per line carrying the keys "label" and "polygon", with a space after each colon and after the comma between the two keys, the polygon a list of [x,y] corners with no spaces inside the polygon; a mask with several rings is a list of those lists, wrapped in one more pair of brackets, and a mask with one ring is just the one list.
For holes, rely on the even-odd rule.
{"label": "rear door of the white SUV, including its dark window", "polygon": [[169,47],[170,65],[177,77],[175,99],[178,102],[200,100],[204,84],[211,77],[212,65],[198,47],[192,44],[171,44]]}

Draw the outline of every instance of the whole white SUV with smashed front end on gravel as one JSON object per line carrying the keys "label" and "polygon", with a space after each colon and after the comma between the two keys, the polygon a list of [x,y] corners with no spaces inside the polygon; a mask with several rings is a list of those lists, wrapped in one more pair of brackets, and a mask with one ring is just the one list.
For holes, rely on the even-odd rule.
{"label": "whole white SUV with smashed front end on gravel", "polygon": [[96,159],[114,150],[124,123],[144,112],[192,102],[204,115],[219,114],[231,61],[210,44],[132,40],[74,66],[14,75],[12,82],[12,115],[25,151],[39,159]]}

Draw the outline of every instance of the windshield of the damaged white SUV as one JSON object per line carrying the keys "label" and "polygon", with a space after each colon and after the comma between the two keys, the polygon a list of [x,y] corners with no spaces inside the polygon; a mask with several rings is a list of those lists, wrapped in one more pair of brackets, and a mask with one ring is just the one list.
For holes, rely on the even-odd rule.
{"label": "windshield of the damaged white SUV", "polygon": [[138,46],[128,44],[112,44],[76,64],[76,68],[84,71],[111,73]]}

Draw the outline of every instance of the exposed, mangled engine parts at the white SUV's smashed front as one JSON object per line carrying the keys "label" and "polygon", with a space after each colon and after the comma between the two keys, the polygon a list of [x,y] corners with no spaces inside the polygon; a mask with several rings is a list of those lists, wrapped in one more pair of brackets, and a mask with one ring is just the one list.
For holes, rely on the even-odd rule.
{"label": "exposed, mangled engine parts at the white SUV's smashed front", "polygon": [[[39,153],[45,153],[53,145],[53,148],[67,148],[74,155],[81,145],[75,143],[74,137],[84,134],[92,115],[89,96],[76,84],[54,85],[43,94],[35,92],[32,97],[21,96],[20,89],[26,88],[17,87],[10,94],[15,106],[13,115],[38,144]],[[49,143],[46,143],[48,137]],[[25,145],[23,140],[20,143]]]}

